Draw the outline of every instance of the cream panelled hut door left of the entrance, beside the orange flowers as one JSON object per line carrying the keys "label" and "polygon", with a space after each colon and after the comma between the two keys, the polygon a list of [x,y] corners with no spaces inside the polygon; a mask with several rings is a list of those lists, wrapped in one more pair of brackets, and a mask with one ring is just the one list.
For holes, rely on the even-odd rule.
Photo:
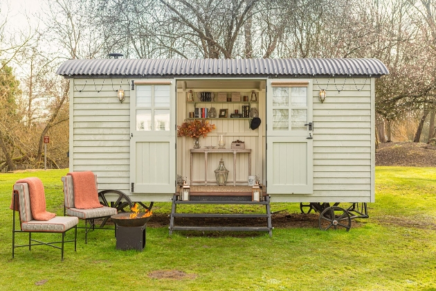
{"label": "cream panelled hut door left of the entrance, beside the orange flowers", "polygon": [[174,90],[171,80],[134,82],[130,96],[131,193],[174,193]]}

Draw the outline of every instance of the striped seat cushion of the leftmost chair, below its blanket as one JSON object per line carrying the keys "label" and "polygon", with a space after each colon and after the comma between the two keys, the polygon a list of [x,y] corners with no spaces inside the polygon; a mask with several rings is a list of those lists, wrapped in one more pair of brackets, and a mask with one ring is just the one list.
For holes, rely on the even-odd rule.
{"label": "striped seat cushion of the leftmost chair, below its blanket", "polygon": [[30,220],[29,222],[21,223],[23,231],[47,231],[47,232],[64,232],[79,223],[79,218],[56,216],[51,220],[39,221]]}

